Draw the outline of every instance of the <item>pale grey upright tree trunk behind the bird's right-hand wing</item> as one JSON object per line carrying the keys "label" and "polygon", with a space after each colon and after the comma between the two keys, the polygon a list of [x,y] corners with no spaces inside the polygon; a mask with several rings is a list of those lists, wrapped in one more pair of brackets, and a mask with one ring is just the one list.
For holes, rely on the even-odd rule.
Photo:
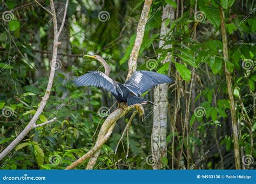
{"label": "pale grey upright tree trunk behind the bird's right-hand wing", "polygon": [[[174,20],[175,9],[167,4],[163,7],[162,13],[162,23],[161,23],[161,40],[159,42],[159,47],[165,44],[166,35],[170,31],[167,26],[165,26],[166,19]],[[164,46],[164,49],[169,49],[171,45]],[[169,62],[172,58],[171,53],[167,53],[168,56],[162,61],[163,64]],[[160,54],[159,56],[160,57]],[[154,89],[154,103],[157,107],[154,107],[153,116],[153,128],[152,128],[152,154],[154,158],[157,158],[157,162],[153,165],[153,169],[162,168],[161,158],[166,157],[166,128],[167,128],[167,113],[168,113],[168,84],[160,84]]]}

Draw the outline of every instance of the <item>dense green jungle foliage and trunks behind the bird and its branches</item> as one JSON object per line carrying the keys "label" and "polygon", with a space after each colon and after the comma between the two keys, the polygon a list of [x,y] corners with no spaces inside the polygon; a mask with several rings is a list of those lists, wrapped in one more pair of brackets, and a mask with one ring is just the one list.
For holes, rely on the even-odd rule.
{"label": "dense green jungle foliage and trunks behind the bird and its branches", "polygon": [[[0,152],[29,124],[49,92],[50,2],[0,2]],[[54,2],[58,28],[65,3]],[[110,77],[125,81],[145,4],[69,1],[50,97],[36,124],[57,119],[31,129],[1,158],[1,169],[64,169],[90,151],[118,104],[109,92],[76,87],[72,80],[104,71],[83,57],[98,54],[110,65]],[[133,114],[135,108],[120,117],[89,168],[255,168],[255,11],[254,0],[153,1],[137,70],[167,74],[174,83],[144,93],[159,106],[143,105],[145,121]],[[86,159],[76,168],[88,164]]]}

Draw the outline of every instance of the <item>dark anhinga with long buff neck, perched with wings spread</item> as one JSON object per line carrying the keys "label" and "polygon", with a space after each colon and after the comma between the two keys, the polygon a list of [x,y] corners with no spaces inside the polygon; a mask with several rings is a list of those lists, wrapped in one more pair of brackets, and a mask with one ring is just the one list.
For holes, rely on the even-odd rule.
{"label": "dark anhinga with long buff neck, perched with wings spread", "polygon": [[[132,106],[136,104],[153,104],[151,101],[140,98],[144,92],[150,90],[150,88],[164,83],[172,83],[173,80],[165,74],[160,74],[150,71],[135,71],[132,76],[124,84],[114,81],[109,77],[110,66],[100,56],[84,55],[93,59],[97,59],[105,68],[105,73],[100,71],[89,71],[73,80],[73,83],[77,86],[96,86],[102,87],[105,90],[111,92],[117,101],[127,103]],[[154,104],[153,104],[154,105]]]}

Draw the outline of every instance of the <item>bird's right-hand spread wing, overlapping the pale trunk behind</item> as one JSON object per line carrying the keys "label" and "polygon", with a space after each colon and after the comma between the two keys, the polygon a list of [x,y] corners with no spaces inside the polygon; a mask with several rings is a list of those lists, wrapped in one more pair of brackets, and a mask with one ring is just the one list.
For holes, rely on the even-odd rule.
{"label": "bird's right-hand spread wing, overlapping the pale trunk behind", "polygon": [[129,88],[134,94],[141,95],[150,88],[164,83],[173,83],[173,80],[165,74],[142,70],[133,72],[131,78],[126,81],[124,86]]}

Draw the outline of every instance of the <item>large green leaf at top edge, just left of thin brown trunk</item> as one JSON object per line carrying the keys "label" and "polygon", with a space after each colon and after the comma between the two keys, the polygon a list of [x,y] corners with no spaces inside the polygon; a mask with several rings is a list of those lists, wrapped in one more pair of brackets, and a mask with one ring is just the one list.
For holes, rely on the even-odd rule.
{"label": "large green leaf at top edge, just left of thin brown trunk", "polygon": [[215,26],[220,25],[219,9],[212,5],[207,5],[203,1],[199,1],[199,8],[205,12],[206,18]]}

